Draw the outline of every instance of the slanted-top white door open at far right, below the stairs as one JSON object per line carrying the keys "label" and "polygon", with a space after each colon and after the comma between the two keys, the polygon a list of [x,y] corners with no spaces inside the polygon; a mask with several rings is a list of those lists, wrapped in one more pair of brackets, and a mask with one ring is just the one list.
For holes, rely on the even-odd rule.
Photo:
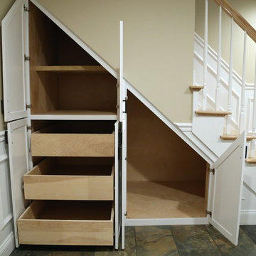
{"label": "slanted-top white door open at far right, below the stairs", "polygon": [[243,132],[211,166],[209,222],[234,245],[238,245],[245,142]]}

